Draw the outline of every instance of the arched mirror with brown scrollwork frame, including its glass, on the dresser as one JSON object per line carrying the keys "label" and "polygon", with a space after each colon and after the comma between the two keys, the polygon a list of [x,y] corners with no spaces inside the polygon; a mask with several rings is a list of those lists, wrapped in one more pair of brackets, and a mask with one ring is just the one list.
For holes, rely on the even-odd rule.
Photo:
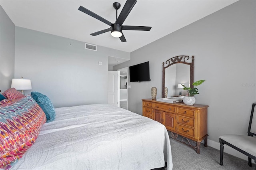
{"label": "arched mirror with brown scrollwork frame, including its glass, on the dresser", "polygon": [[[179,55],[163,63],[162,98],[164,98],[165,87],[168,88],[167,97],[174,97],[179,95],[178,84],[193,88],[193,82],[194,56]],[[186,91],[182,90],[182,95],[187,95]]]}

